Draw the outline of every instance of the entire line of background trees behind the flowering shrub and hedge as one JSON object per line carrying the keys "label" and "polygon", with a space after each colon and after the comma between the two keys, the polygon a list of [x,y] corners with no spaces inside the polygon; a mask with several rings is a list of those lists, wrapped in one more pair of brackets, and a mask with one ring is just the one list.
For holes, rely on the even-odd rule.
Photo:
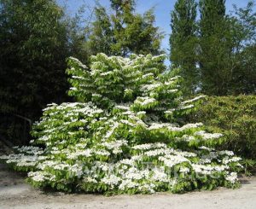
{"label": "entire line of background trees behind the flowering shrub and hedge", "polygon": [[[74,16],[55,0],[0,0],[0,135],[20,141],[26,121],[38,120],[47,103],[67,99],[68,56],[160,55],[164,34],[154,9],[136,11],[135,0],[96,3]],[[253,2],[225,12],[220,0],[177,0],[171,12],[170,60],[180,67],[184,92],[255,93]],[[198,13],[199,10],[199,13]],[[198,16],[200,18],[198,20]]]}

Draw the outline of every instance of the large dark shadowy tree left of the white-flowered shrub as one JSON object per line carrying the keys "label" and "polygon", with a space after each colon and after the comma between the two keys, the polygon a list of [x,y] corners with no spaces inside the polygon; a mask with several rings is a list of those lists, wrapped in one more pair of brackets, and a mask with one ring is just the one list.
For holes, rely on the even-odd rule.
{"label": "large dark shadowy tree left of the white-flowered shrub", "polygon": [[0,0],[1,127],[15,132],[11,124],[17,117],[34,121],[47,103],[66,98],[63,15],[51,0]]}

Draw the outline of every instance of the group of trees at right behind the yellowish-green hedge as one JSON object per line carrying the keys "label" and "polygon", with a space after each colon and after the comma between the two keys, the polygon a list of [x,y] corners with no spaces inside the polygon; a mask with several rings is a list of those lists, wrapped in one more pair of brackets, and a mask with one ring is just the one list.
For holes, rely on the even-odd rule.
{"label": "group of trees at right behind the yellowish-green hedge", "polygon": [[[226,14],[224,0],[177,0],[172,11],[170,60],[181,67],[187,95],[254,94],[254,3]],[[197,14],[199,10],[199,15]],[[197,16],[200,16],[197,19]]]}

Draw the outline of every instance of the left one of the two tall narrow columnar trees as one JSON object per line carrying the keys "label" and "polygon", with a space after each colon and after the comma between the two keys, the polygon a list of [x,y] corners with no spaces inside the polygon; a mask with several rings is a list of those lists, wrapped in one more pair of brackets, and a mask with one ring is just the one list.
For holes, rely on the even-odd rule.
{"label": "left one of the two tall narrow columnar trees", "polygon": [[181,67],[184,93],[195,92],[198,82],[196,68],[196,7],[195,0],[177,0],[171,13],[170,61]]}

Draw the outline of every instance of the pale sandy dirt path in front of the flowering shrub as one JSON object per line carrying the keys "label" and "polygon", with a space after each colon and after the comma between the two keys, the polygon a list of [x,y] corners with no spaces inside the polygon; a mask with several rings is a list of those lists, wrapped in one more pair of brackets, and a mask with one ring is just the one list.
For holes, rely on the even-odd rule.
{"label": "pale sandy dirt path in front of the flowering shrub", "polygon": [[24,183],[24,175],[0,165],[0,208],[256,208],[256,177],[243,181],[241,189],[218,189],[187,194],[116,195],[47,194]]}

